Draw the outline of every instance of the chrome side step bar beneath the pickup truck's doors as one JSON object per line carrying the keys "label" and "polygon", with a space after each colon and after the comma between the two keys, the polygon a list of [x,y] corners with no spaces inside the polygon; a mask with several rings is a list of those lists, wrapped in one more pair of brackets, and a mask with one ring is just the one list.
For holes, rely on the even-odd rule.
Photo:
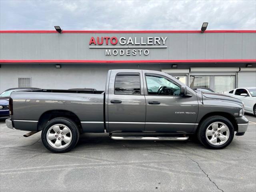
{"label": "chrome side step bar beneath the pickup truck's doors", "polygon": [[158,140],[158,141],[184,141],[188,140],[188,136],[185,137],[137,137],[137,136],[110,136],[114,140]]}

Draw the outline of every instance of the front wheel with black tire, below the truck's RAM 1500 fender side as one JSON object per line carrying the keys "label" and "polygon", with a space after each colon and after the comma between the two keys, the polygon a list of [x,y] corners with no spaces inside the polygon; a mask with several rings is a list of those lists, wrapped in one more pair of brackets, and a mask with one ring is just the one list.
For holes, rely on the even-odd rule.
{"label": "front wheel with black tire, below the truck's RAM 1500 fender side", "polygon": [[232,142],[234,126],[223,116],[211,116],[201,122],[197,136],[207,148],[222,149]]}

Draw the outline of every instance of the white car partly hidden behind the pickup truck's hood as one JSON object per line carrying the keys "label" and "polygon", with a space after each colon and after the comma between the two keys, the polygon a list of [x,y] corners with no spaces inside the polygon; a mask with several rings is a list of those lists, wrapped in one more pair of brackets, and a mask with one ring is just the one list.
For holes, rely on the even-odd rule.
{"label": "white car partly hidden behind the pickup truck's hood", "polygon": [[238,98],[244,102],[244,111],[256,116],[256,88],[242,87],[228,92],[228,95]]}

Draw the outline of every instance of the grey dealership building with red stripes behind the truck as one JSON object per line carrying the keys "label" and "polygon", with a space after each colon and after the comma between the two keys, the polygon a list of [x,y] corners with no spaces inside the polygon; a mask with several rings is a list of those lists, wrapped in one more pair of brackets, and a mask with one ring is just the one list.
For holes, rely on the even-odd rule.
{"label": "grey dealership building with red stripes behind the truck", "polygon": [[215,92],[256,86],[256,31],[0,31],[0,92],[104,90],[110,69],[162,71]]}

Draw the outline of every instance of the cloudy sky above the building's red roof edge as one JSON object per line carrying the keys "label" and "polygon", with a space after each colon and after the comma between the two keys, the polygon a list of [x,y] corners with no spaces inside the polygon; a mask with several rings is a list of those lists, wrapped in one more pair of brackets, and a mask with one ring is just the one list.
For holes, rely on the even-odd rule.
{"label": "cloudy sky above the building's red roof edge", "polygon": [[256,30],[256,0],[0,0],[0,30]]}

